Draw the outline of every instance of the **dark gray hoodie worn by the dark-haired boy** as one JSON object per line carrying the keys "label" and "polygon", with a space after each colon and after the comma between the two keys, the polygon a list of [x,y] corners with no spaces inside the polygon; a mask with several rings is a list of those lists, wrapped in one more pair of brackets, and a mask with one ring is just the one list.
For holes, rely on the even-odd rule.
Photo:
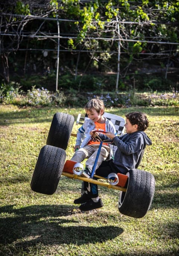
{"label": "dark gray hoodie worn by the dark-haired boy", "polygon": [[[107,139],[106,137],[100,134],[102,140]],[[129,169],[136,168],[146,145],[152,144],[145,132],[126,133],[122,136],[115,136],[112,141],[117,146],[113,163],[123,174],[126,174]]]}

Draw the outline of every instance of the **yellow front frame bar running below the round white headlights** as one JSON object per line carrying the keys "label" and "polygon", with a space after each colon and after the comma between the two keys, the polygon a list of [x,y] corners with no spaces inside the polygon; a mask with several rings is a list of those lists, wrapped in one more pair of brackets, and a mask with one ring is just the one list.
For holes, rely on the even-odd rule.
{"label": "yellow front frame bar running below the round white headlights", "polygon": [[[72,174],[72,173],[69,173],[69,172],[62,172],[62,175],[66,176],[70,179],[73,179],[73,180],[78,179],[78,180],[82,180],[82,181],[87,181],[87,182],[90,182],[90,183],[93,183],[93,184],[108,187],[109,189],[116,189],[116,190],[126,192],[126,188],[124,188],[124,187],[113,186],[109,183],[106,183],[106,182],[103,182],[103,181],[98,181],[98,180],[93,180],[91,178],[85,178],[85,177],[79,176],[77,174]],[[103,177],[100,177],[100,176],[97,176],[97,175],[94,175],[94,177],[107,180],[106,178],[103,178]]]}

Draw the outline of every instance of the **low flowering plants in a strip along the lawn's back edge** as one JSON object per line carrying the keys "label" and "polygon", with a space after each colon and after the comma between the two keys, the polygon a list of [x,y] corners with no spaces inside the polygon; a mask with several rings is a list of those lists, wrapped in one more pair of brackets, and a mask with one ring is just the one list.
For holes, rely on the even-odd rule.
{"label": "low flowering plants in a strip along the lawn's back edge", "polygon": [[[69,81],[67,81],[69,80]],[[107,92],[105,89],[106,79],[96,79],[91,76],[86,78],[85,86],[81,84],[81,90],[76,90],[73,80],[69,76],[65,76],[66,90],[60,90],[55,93],[51,93],[46,88],[36,88],[32,86],[31,90],[25,93],[20,89],[19,84],[16,87],[9,85],[1,85],[0,87],[0,101],[3,104],[13,104],[19,106],[68,106],[68,107],[80,107],[84,106],[87,100],[92,98],[102,99],[106,107],[126,107],[131,106],[179,106],[179,93],[172,89],[172,92],[158,93],[157,91],[151,91],[150,93],[138,93],[135,89],[130,89],[127,92],[114,92],[109,89]],[[71,86],[67,85],[71,82]],[[154,81],[156,83],[156,81]],[[65,82],[64,82],[65,83]],[[15,84],[15,83],[14,83]],[[91,87],[93,84],[93,87]],[[73,85],[73,86],[72,86]],[[93,92],[86,90],[89,86]],[[109,86],[109,84],[108,84]],[[122,87],[122,83],[120,84]],[[109,87],[110,88],[110,87]]]}

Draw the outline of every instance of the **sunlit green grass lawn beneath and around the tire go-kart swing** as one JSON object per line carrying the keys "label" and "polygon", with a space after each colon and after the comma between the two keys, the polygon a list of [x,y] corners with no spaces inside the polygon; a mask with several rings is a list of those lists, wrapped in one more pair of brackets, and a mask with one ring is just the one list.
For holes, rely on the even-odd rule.
{"label": "sunlit green grass lawn beneath and around the tire go-kart swing", "polygon": [[[100,188],[104,207],[82,214],[73,200],[81,182],[62,176],[56,193],[30,188],[40,149],[56,112],[75,118],[83,109],[0,106],[0,255],[174,256],[179,255],[179,108],[128,108],[106,112],[148,114],[147,147],[140,169],[151,172],[156,191],[141,219],[122,216],[118,192]],[[73,126],[76,132],[78,126]],[[73,154],[75,138],[66,150]]]}

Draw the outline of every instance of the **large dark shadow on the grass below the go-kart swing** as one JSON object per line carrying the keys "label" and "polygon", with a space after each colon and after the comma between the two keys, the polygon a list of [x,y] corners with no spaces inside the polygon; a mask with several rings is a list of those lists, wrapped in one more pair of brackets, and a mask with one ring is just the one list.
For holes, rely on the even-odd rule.
{"label": "large dark shadow on the grass below the go-kart swing", "polygon": [[8,205],[0,207],[0,212],[3,216],[0,219],[0,244],[4,245],[17,240],[20,242],[16,246],[26,248],[37,243],[103,243],[123,232],[117,226],[79,226],[78,219],[65,219],[73,214],[67,205],[33,205],[21,209]]}

